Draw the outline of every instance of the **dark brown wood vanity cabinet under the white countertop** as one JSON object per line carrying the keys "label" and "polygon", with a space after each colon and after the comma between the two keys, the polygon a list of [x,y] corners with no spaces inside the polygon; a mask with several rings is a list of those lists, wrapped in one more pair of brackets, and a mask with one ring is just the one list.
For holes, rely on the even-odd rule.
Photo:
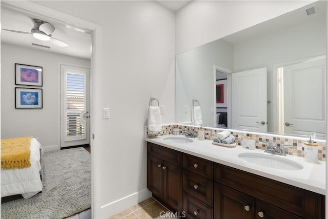
{"label": "dark brown wood vanity cabinet under the white countertop", "polygon": [[[147,143],[147,187],[186,218],[324,218],[324,195]],[[183,212],[183,214],[182,214]]]}

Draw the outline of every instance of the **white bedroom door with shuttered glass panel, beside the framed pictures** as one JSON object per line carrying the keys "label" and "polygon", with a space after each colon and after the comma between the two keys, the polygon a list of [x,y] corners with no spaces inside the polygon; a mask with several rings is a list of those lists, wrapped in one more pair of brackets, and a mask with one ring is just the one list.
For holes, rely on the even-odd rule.
{"label": "white bedroom door with shuttered glass panel, beside the framed pictures", "polygon": [[89,69],[68,65],[60,68],[60,147],[89,144]]}

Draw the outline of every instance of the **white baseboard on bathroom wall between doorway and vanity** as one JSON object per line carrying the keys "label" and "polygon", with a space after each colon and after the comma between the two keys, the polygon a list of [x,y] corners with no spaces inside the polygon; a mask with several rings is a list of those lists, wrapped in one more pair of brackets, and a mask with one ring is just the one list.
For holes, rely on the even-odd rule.
{"label": "white baseboard on bathroom wall between doorway and vanity", "polygon": [[108,203],[107,205],[102,206],[100,209],[100,217],[108,218],[114,214],[117,214],[121,211],[128,209],[131,206],[138,204],[151,197],[152,193],[148,189],[138,191],[136,193],[130,194],[126,197],[122,197],[119,200]]}

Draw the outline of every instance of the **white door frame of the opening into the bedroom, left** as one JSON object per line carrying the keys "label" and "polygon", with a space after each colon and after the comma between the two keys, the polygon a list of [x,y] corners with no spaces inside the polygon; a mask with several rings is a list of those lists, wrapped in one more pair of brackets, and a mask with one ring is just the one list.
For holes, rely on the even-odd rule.
{"label": "white door frame of the opening into the bedroom, left", "polygon": [[[2,7],[31,13],[48,21],[83,28],[91,33],[91,67],[90,67],[90,144],[91,148],[91,215],[92,218],[100,217],[101,211],[101,160],[95,157],[101,155],[101,117],[95,116],[95,111],[101,110],[101,27],[100,25],[85,21],[84,19],[42,6],[29,1],[2,1]],[[96,134],[96,137],[92,137]],[[97,185],[97,186],[96,186]]]}

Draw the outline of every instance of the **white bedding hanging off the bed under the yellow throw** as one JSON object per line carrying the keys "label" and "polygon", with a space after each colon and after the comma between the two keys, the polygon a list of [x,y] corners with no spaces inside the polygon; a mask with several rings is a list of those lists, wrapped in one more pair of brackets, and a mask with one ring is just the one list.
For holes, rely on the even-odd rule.
{"label": "white bedding hanging off the bed under the yellow throw", "polygon": [[43,152],[41,144],[32,138],[31,166],[1,170],[1,197],[22,194],[24,198],[29,198],[42,191],[40,150]]}

